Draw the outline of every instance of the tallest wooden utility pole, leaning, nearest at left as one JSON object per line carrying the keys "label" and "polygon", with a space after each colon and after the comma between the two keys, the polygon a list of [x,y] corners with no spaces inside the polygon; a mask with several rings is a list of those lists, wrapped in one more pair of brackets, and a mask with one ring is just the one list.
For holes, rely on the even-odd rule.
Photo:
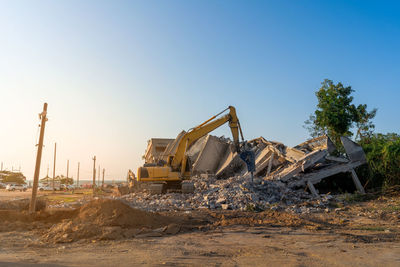
{"label": "tallest wooden utility pole, leaning, nearest at left", "polygon": [[46,126],[46,121],[47,121],[46,115],[47,115],[47,103],[44,103],[43,111],[42,113],[39,114],[39,118],[41,119],[40,137],[39,137],[38,151],[36,155],[35,174],[33,175],[32,198],[31,198],[31,203],[29,205],[29,213],[33,213],[36,210],[36,195],[37,195],[37,188],[39,185],[40,162],[42,160],[44,128]]}

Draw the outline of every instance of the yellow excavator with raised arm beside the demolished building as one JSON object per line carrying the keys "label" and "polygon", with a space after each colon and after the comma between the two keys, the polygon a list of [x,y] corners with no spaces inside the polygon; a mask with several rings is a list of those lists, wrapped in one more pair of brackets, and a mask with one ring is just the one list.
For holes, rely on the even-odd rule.
{"label": "yellow excavator with raised arm beside the demolished building", "polygon": [[[228,114],[220,116],[227,110],[229,110]],[[193,183],[182,183],[183,180],[189,180],[191,175],[186,150],[199,138],[227,122],[229,122],[229,127],[231,128],[236,152],[246,162],[248,170],[252,172],[254,170],[254,153],[247,148],[244,141],[236,109],[233,106],[229,106],[217,115],[178,136],[175,140],[175,149],[167,155],[166,161],[160,161],[157,164],[145,164],[143,167],[139,167],[136,179],[133,179],[133,172],[130,171],[131,182],[135,184],[135,187],[141,184],[150,184],[150,192],[154,194],[162,193],[166,189],[182,190],[183,193],[192,192],[194,190]],[[239,142],[239,133],[242,143]]]}

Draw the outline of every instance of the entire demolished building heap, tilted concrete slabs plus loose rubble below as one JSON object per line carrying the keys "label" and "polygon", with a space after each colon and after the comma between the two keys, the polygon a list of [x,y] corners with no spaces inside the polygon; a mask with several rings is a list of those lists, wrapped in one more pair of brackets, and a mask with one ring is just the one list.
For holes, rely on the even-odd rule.
{"label": "entire demolished building heap, tilted concrete slabs plus loose rubble below", "polygon": [[[165,153],[176,149],[184,133],[168,145]],[[327,203],[332,196],[320,195],[314,185],[326,177],[349,172],[357,190],[364,193],[354,168],[366,162],[365,154],[361,146],[348,138],[341,140],[347,155],[331,155],[336,148],[327,136],[295,147],[267,141],[263,137],[251,140],[248,144],[255,154],[256,165],[252,182],[246,164],[234,150],[232,142],[207,135],[192,144],[186,152],[193,174],[193,193],[151,194],[144,190],[114,198],[123,199],[130,206],[145,211],[199,208],[272,209],[295,213],[323,211],[329,209]]]}

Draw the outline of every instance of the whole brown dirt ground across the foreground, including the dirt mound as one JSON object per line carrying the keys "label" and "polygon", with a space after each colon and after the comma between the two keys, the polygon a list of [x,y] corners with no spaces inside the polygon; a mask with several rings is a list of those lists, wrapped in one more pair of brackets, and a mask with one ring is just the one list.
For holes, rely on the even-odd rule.
{"label": "whole brown dirt ground across the foreground, including the dirt mound", "polygon": [[0,266],[400,266],[399,211],[399,196],[312,214],[3,210]]}

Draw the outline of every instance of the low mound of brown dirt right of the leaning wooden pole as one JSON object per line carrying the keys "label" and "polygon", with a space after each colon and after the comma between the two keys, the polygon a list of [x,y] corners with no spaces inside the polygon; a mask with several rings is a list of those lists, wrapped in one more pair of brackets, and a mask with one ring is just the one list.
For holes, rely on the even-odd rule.
{"label": "low mound of brown dirt right of the leaning wooden pole", "polygon": [[131,208],[120,200],[98,199],[82,206],[73,218],[55,224],[42,240],[67,243],[81,239],[131,238],[154,232],[154,229],[162,235],[175,221],[171,217]]}

